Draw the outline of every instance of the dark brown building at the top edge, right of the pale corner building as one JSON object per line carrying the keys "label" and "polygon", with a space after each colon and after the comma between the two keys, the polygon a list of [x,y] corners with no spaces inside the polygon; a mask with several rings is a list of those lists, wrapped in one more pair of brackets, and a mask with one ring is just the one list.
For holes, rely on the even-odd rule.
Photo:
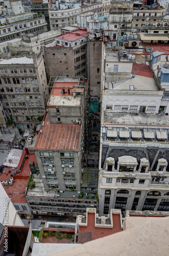
{"label": "dark brown building at the top edge, right of the pale corner building", "polygon": [[49,11],[52,8],[52,1],[48,0],[33,0],[31,5],[31,11],[37,12],[38,14],[43,14],[47,22],[47,30],[50,31],[49,22]]}

